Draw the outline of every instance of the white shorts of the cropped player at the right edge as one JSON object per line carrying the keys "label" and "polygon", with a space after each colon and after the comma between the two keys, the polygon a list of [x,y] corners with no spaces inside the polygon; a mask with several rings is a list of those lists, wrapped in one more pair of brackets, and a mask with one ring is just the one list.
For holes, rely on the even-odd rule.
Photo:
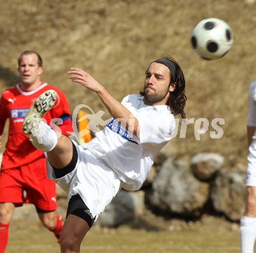
{"label": "white shorts of the cropped player at the right edge", "polygon": [[246,173],[246,186],[256,186],[256,141],[249,147],[248,167]]}

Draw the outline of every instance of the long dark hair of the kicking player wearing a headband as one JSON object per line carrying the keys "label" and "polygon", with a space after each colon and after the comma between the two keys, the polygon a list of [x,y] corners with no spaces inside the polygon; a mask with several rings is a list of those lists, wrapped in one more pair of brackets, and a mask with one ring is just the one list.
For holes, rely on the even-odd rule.
{"label": "long dark hair of the kicking player wearing a headband", "polygon": [[[170,110],[173,115],[179,115],[182,119],[186,118],[186,113],[184,112],[184,108],[186,106],[187,97],[185,95],[185,77],[182,69],[179,64],[170,56],[165,56],[162,59],[169,60],[176,66],[175,80],[173,80],[173,76],[170,73],[170,84],[175,84],[175,90],[170,92],[170,97],[166,102],[166,105],[170,106]],[[154,62],[154,61],[153,61]],[[140,95],[144,95],[144,91],[140,92]]]}

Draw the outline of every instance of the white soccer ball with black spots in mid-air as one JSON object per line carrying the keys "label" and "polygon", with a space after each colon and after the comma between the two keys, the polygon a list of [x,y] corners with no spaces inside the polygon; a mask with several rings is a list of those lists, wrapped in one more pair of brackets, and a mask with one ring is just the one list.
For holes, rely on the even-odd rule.
{"label": "white soccer ball with black spots in mid-air", "polygon": [[200,58],[219,59],[232,48],[232,30],[221,19],[211,17],[201,20],[192,31],[191,44]]}

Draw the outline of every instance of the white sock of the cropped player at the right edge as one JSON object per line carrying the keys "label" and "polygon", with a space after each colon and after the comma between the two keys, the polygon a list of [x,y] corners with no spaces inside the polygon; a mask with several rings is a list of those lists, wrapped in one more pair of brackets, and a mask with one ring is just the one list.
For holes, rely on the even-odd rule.
{"label": "white sock of the cropped player at the right edge", "polygon": [[241,253],[254,253],[256,218],[243,216],[240,223]]}

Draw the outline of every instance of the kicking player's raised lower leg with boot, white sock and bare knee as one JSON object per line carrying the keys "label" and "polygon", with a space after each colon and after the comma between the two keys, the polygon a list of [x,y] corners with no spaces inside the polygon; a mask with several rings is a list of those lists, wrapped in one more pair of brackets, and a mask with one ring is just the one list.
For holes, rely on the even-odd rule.
{"label": "kicking player's raised lower leg with boot, white sock and bare knee", "polygon": [[35,148],[47,152],[48,160],[55,168],[64,168],[72,160],[72,141],[66,136],[58,138],[56,132],[42,120],[56,101],[56,92],[48,90],[33,103],[23,123],[23,132],[27,134]]}

